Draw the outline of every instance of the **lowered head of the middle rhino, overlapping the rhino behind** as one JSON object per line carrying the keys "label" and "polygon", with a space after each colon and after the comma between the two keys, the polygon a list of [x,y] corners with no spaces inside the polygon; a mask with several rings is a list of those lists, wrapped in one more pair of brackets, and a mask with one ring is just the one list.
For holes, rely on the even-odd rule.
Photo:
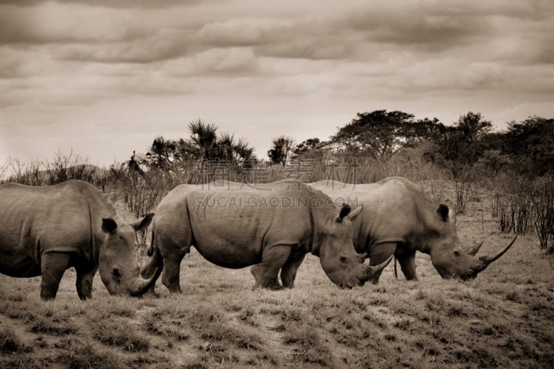
{"label": "lowered head of the middle rhino, overlapping the rhino behind", "polygon": [[350,212],[350,206],[344,204],[339,215],[325,224],[321,234],[321,267],[330,280],[341,288],[364,285],[393,259],[391,256],[382,264],[370,267],[364,264],[366,253],[356,253],[352,242],[352,220],[361,213],[361,209],[359,206]]}

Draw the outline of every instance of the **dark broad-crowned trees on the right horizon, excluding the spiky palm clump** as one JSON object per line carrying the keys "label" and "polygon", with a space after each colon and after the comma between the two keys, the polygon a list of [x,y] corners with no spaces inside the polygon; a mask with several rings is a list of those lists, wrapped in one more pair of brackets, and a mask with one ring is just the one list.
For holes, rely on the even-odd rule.
{"label": "dark broad-crowned trees on the right horizon, excluding the spiky palm clump", "polygon": [[298,145],[292,138],[274,139],[268,152],[273,163],[287,159],[341,159],[370,157],[384,161],[402,150],[418,148],[420,154],[456,176],[467,165],[481,165],[492,173],[512,170],[540,177],[554,171],[554,119],[539,116],[512,121],[502,132],[472,111],[454,125],[438,119],[415,119],[404,111],[375,110],[358,113],[328,141],[310,138]]}

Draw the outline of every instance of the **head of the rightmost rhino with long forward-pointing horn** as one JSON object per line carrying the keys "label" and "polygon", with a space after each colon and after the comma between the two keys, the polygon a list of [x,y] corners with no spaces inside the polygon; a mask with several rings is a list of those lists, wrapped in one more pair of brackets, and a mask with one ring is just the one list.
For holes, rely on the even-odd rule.
{"label": "head of the rightmost rhino with long forward-pointing horn", "polygon": [[490,263],[500,258],[514,244],[517,235],[512,242],[503,250],[494,256],[481,256],[476,258],[477,251],[481,248],[481,244],[466,251],[461,247],[461,242],[456,235],[454,225],[448,223],[448,208],[445,205],[440,205],[437,210],[440,215],[440,220],[443,226],[434,237],[430,237],[429,253],[431,254],[431,262],[443,278],[461,278],[462,280],[473,279],[481,271],[485,270]]}

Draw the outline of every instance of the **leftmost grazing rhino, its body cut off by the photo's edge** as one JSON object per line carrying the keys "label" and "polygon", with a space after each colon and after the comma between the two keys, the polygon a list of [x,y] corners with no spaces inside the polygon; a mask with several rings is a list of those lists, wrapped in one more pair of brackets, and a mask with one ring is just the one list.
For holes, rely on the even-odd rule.
{"label": "leftmost grazing rhino, its body cut off by the photo's edge", "polygon": [[55,298],[66,269],[75,267],[77,293],[91,297],[97,269],[110,294],[141,296],[156,282],[139,276],[135,232],[153,214],[127,224],[102,192],[83,181],[30,187],[0,186],[0,273],[42,275],[40,296]]}

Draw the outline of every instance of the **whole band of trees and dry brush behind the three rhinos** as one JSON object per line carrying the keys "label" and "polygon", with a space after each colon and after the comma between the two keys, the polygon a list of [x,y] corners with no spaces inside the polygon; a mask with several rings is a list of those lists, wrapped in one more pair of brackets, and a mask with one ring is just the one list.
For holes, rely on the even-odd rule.
{"label": "whole band of trees and dry brush behind the three rhinos", "polygon": [[553,156],[553,118],[533,116],[493,132],[492,123],[472,111],[445,125],[404,111],[375,110],[356,114],[326,141],[313,137],[296,144],[289,136],[274,138],[267,161],[254,155],[244,137],[194,120],[186,138],[158,136],[145,153],[133,152],[110,168],[89,165],[73,152],[58,153],[53,162],[12,159],[0,167],[0,179],[32,186],[82,179],[109,193],[112,201],[122,200],[136,217],[181,183],[286,178],[373,183],[391,176],[447,180],[454,184],[454,198],[443,198],[444,182],[430,191],[452,205],[454,220],[471,199],[490,198],[499,231],[536,231],[541,247],[554,253]]}

